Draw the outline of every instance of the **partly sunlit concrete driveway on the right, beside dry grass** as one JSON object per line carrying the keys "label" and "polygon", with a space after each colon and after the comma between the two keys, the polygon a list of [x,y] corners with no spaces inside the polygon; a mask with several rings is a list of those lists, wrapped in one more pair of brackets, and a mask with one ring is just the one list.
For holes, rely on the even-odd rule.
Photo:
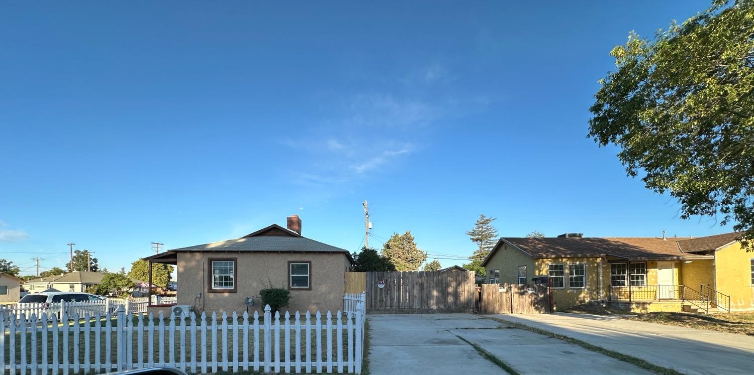
{"label": "partly sunlit concrete driveway on the right, beside dry grass", "polygon": [[754,373],[754,337],[581,314],[494,315],[690,375]]}

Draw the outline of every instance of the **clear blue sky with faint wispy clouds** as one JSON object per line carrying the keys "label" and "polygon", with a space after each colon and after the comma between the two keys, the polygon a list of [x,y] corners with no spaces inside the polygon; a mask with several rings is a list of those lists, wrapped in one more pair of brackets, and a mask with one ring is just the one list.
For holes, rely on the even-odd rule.
{"label": "clear blue sky with faint wispy clouds", "polygon": [[75,242],[118,270],[294,213],[355,250],[365,199],[370,245],[452,255],[480,213],[501,236],[729,231],[586,138],[609,50],[708,3],[5,3],[0,257],[29,274]]}

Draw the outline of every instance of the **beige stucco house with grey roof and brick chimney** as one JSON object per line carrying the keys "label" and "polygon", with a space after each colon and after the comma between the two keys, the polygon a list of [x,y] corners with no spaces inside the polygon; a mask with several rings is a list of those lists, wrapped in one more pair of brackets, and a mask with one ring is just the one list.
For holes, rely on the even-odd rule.
{"label": "beige stucco house with grey roof and brick chimney", "polygon": [[290,290],[291,311],[334,313],[343,308],[345,273],[353,264],[348,250],[302,236],[297,215],[287,218],[287,228],[272,224],[238,239],[174,248],[145,260],[149,267],[176,265],[176,305],[207,313],[261,311],[259,291],[268,285]]}

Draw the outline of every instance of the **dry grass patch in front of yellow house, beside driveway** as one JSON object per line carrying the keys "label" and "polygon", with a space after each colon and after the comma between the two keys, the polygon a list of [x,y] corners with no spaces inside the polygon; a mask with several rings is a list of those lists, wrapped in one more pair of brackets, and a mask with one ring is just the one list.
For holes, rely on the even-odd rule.
{"label": "dry grass patch in front of yellow house, beside driveway", "polygon": [[754,313],[752,312],[719,313],[716,315],[645,313],[624,319],[754,336]]}

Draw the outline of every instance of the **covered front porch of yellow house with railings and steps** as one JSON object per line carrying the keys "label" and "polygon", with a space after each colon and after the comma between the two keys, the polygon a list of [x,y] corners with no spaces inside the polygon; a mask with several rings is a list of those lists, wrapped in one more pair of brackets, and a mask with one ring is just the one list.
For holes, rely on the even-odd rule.
{"label": "covered front porch of yellow house with railings and steps", "polygon": [[730,296],[715,290],[713,261],[712,255],[610,257],[608,301],[643,312],[728,310]]}

